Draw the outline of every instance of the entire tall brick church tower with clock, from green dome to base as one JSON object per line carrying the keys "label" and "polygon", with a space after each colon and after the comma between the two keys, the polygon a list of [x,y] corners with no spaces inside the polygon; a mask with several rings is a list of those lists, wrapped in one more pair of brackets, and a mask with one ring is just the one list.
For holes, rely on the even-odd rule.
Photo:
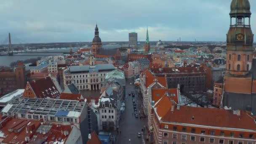
{"label": "entire tall brick church tower with clock, from green dome to base", "polygon": [[229,15],[222,105],[256,114],[256,59],[249,0],[232,0]]}

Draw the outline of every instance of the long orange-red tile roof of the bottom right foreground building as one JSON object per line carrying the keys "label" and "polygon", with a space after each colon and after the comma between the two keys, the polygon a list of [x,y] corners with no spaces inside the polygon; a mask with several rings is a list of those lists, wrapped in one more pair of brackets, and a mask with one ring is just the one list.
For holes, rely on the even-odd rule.
{"label": "long orange-red tile roof of the bottom right foreground building", "polygon": [[[233,110],[180,106],[180,109],[175,108],[174,111],[171,112],[169,106],[171,104],[170,100],[168,101],[166,97],[156,104],[157,114],[162,117],[161,120],[163,123],[171,122],[220,128],[256,130],[254,119],[244,111],[240,111],[240,115],[235,115],[233,114]],[[192,119],[192,117],[194,119]]]}

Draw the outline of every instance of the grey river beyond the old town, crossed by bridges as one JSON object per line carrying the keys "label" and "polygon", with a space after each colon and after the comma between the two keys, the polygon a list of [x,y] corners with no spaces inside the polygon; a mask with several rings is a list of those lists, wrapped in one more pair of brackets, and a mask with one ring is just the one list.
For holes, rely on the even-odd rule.
{"label": "grey river beyond the old town, crossed by bridges", "polygon": [[[111,48],[119,48],[121,46],[127,45],[103,45],[103,48],[111,49]],[[80,47],[79,47],[80,48]],[[79,48],[72,48],[73,52],[76,52]],[[56,48],[56,49],[47,49],[47,50],[38,50],[38,51],[52,51],[52,52],[69,52],[70,48]],[[11,62],[18,61],[18,60],[26,60],[31,58],[37,57],[46,57],[46,56],[53,56],[53,55],[62,55],[61,53],[19,53],[15,54],[14,56],[0,56],[0,66],[9,67]]]}

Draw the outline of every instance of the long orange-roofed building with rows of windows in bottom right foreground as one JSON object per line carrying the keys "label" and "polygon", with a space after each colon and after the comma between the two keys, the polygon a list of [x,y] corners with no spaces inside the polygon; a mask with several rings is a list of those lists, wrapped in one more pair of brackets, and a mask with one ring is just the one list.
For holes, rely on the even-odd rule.
{"label": "long orange-roofed building with rows of windows in bottom right foreground", "polygon": [[254,144],[256,123],[244,111],[179,106],[163,96],[153,106],[155,144]]}

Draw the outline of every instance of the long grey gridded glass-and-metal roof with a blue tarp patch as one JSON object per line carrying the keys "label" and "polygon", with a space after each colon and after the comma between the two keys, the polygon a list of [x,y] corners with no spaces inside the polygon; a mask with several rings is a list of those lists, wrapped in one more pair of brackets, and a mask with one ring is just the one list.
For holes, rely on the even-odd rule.
{"label": "long grey gridded glass-and-metal roof with a blue tarp patch", "polygon": [[79,101],[16,97],[2,109],[2,113],[57,115],[64,111],[68,117],[79,117],[83,107],[85,107],[85,103]]}

